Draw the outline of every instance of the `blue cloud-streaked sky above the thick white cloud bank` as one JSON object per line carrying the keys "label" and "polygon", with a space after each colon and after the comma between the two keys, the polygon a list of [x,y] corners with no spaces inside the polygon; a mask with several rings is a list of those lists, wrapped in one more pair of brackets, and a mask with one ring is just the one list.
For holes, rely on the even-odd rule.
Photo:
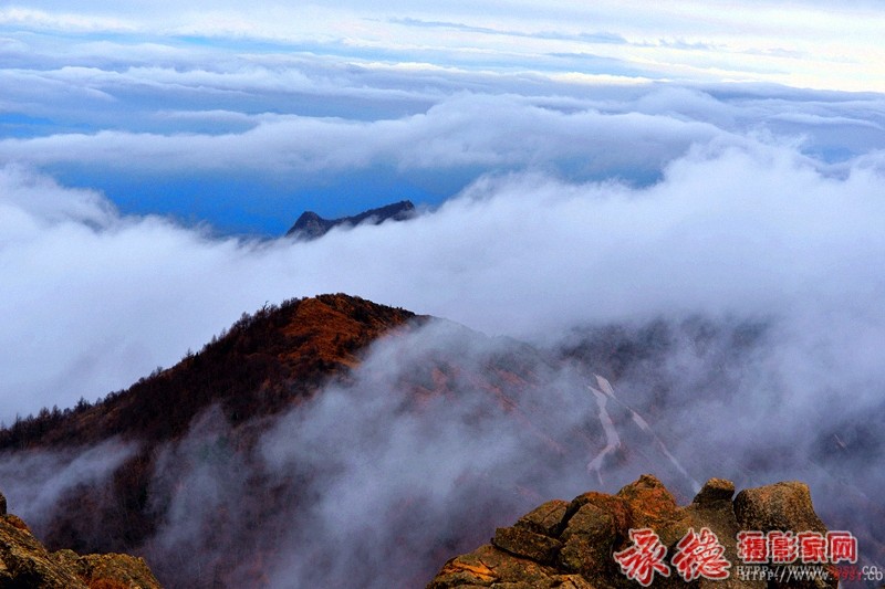
{"label": "blue cloud-streaked sky above the thick white cloud bank", "polygon": [[305,209],[435,208],[488,173],[647,183],[683,152],[603,161],[569,133],[589,113],[801,136],[806,151],[844,160],[882,139],[879,12],[13,2],[0,9],[0,161],[100,190],[124,214],[273,236]]}

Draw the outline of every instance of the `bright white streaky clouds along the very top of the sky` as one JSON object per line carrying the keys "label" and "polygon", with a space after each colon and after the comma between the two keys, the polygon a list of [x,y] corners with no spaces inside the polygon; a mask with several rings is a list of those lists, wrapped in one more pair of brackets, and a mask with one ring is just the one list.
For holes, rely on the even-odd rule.
{"label": "bright white streaky clouds along the very top of the sky", "polygon": [[[427,27],[421,23],[451,23]],[[657,80],[768,81],[794,86],[877,90],[881,11],[873,4],[821,7],[743,2],[678,6],[571,2],[311,3],[295,8],[212,1],[186,9],[91,2],[59,7],[31,1],[0,11],[0,25],[41,34],[113,33],[144,38],[199,36],[216,42],[316,44],[320,53],[361,59],[382,52],[391,62],[507,71],[571,73],[555,53],[593,53],[622,72]],[[598,31],[605,31],[600,36]],[[625,42],[612,43],[612,39]],[[59,40],[61,41],[61,40]],[[74,41],[76,44],[77,42]],[[64,46],[62,43],[61,46]],[[248,50],[247,50],[248,51]],[[62,50],[64,53],[64,50]],[[872,69],[872,70],[871,70]],[[879,72],[881,74],[881,72]]]}

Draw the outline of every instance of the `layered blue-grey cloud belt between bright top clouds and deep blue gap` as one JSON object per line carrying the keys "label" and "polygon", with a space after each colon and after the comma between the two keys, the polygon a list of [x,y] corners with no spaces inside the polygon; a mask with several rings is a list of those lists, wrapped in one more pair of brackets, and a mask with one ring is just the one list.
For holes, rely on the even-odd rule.
{"label": "layered blue-grey cloud belt between bright top clouds and deep blue gap", "polygon": [[[106,51],[121,53],[117,45]],[[304,173],[322,172],[314,186],[332,171],[377,166],[469,168],[473,178],[503,167],[572,180],[631,172],[647,180],[688,145],[716,136],[803,137],[809,152],[846,159],[882,145],[885,128],[878,95],[779,88],[772,97],[748,85],[631,88],[574,83],[580,76],[551,82],[420,64],[217,56],[212,67],[175,57],[157,66],[98,60],[1,72],[15,88],[7,107],[32,120],[18,128],[35,136],[0,139],[0,159],[74,168],[92,179],[87,186],[102,182],[108,167],[160,177],[261,170],[302,182]]]}

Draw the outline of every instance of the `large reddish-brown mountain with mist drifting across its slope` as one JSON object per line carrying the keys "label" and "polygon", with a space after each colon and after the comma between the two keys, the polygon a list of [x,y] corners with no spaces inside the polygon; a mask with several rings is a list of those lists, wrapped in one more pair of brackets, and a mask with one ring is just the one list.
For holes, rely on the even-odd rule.
{"label": "large reddish-brown mountain with mist drifting across its slope", "polygon": [[[693,319],[539,348],[344,294],[292,299],[98,403],[18,420],[0,482],[50,549],[137,555],[166,587],[419,587],[550,497],[653,472],[690,501],[723,462],[677,451],[697,435],[684,418],[766,334]],[[686,346],[690,379],[671,361]],[[742,486],[780,467],[732,454]],[[878,561],[881,506],[833,480],[855,509],[830,513]]]}

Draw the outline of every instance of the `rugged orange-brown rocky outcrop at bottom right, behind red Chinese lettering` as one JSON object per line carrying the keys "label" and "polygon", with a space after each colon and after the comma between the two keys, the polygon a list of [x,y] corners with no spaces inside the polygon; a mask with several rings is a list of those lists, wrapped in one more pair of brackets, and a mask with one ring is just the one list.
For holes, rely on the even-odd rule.
{"label": "rugged orange-brown rocky outcrop at bottom right, behind red Chinese lettering", "polygon": [[[649,579],[648,587],[824,589],[837,586],[824,565],[799,567],[796,562],[803,575],[819,575],[816,579],[796,581],[778,576],[771,580],[762,575],[769,570],[779,575],[775,565],[750,566],[739,559],[737,537],[741,530],[826,534],[814,513],[806,485],[778,483],[745,490],[732,501],[733,495],[731,482],[711,478],[689,505],[680,507],[660,481],[643,475],[615,495],[590,492],[571,502],[551,501],[522,516],[513,526],[498,528],[490,544],[450,559],[427,589],[641,587],[637,580],[627,578],[615,559],[615,554],[623,555],[638,545],[631,530],[641,529],[653,530],[666,547],[662,561],[669,576],[658,571]],[[728,575],[722,579],[698,575],[688,582],[685,575],[677,574],[675,556],[680,545],[683,551],[690,551],[680,540],[700,537],[704,530],[709,530],[708,536],[716,535],[720,556],[729,564],[721,570]],[[690,571],[690,567],[683,570]]]}

